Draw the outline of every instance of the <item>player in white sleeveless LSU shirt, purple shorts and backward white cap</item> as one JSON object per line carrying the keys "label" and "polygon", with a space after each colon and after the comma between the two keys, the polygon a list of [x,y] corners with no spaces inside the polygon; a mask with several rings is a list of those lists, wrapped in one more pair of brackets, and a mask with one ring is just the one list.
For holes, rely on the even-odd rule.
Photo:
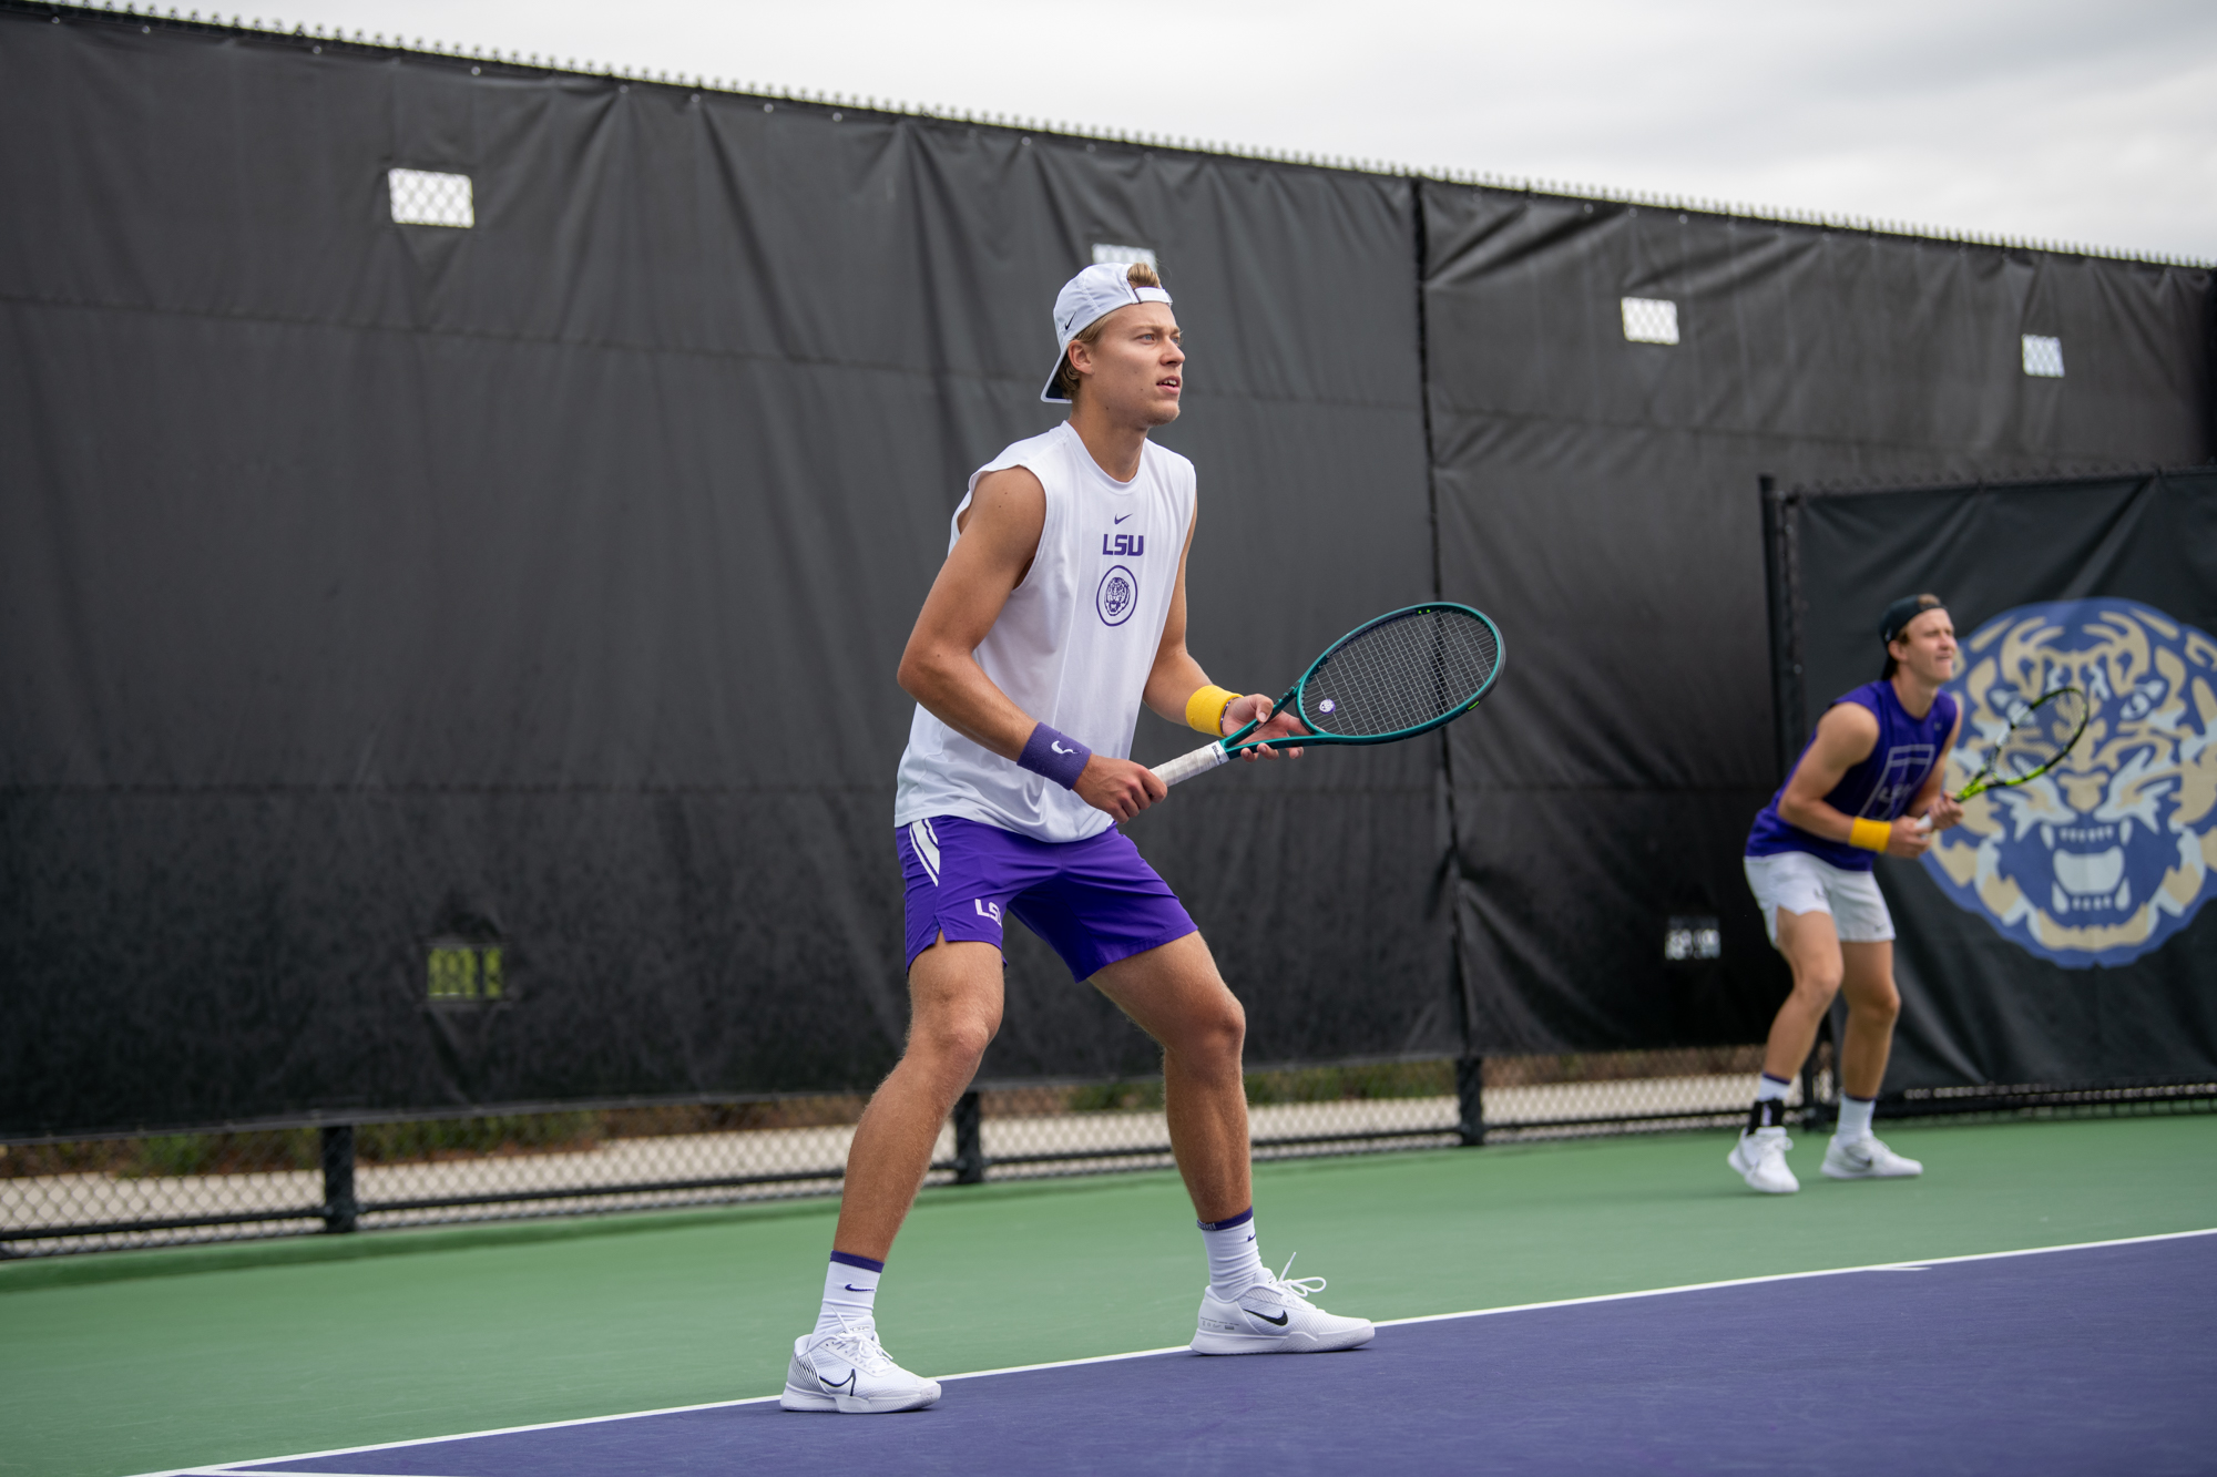
{"label": "player in white sleeveless LSU shirt, purple shorts and backward white cap", "polygon": [[918,703],[893,803],[909,1042],[847,1153],[825,1297],[794,1340],[787,1410],[916,1410],[940,1397],[878,1342],[878,1277],[1000,1029],[1011,916],[1162,1045],[1171,1147],[1208,1255],[1193,1348],[1319,1353],[1372,1335],[1308,1302],[1321,1277],[1261,1264],[1246,1016],[1177,896],[1115,829],[1166,796],[1128,758],[1142,701],[1213,736],[1250,719],[1266,719],[1259,738],[1304,732],[1266,694],[1213,685],[1186,652],[1193,464],[1148,439],[1177,419],[1184,393],[1171,295],[1153,266],[1089,266],[1055,299],[1055,335],[1040,399],[1071,404],[1071,417],[971,477],[900,659]]}

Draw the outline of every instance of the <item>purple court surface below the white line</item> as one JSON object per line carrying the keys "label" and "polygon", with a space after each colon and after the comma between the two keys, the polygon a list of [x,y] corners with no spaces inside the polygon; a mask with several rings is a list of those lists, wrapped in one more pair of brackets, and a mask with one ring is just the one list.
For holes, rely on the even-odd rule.
{"label": "purple court surface below the white line", "polygon": [[2217,1473],[2217,1235],[973,1375],[909,1415],[743,1402],[195,1470]]}

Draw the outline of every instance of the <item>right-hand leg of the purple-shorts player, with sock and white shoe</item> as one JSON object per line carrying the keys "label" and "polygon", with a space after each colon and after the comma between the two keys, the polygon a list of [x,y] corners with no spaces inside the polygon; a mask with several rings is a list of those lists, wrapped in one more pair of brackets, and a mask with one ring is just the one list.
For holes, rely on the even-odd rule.
{"label": "right-hand leg of the purple-shorts player, with sock and white shoe", "polygon": [[1255,1242],[1248,1169],[1246,1009],[1224,985],[1199,934],[1108,965],[1093,985],[1162,1045],[1171,1149],[1208,1242],[1208,1291],[1195,1353],[1326,1353],[1368,1344],[1361,1317],[1308,1302],[1324,1277],[1284,1280]]}

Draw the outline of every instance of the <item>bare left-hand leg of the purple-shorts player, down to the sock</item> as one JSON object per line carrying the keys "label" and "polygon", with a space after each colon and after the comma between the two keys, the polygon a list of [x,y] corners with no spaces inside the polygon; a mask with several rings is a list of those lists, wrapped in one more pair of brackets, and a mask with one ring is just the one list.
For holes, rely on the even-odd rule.
{"label": "bare left-hand leg of the purple-shorts player, down to the sock", "polygon": [[836,1251],[882,1262],[931,1169],[956,1098],[1000,1029],[1002,962],[989,943],[944,938],[909,965],[909,1045],[871,1093],[847,1149]]}

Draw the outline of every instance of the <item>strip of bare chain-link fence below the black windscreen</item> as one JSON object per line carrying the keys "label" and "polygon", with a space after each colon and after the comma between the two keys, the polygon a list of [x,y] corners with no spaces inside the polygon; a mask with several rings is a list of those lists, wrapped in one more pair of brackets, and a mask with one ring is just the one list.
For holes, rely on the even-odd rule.
{"label": "strip of bare chain-link fence below the black windscreen", "polygon": [[[1740,1122],[1760,1047],[1344,1062],[1248,1076],[1255,1158]],[[448,1120],[253,1127],[0,1144],[0,1255],[831,1195],[865,1098],[568,1107]],[[1796,1084],[1829,1122],[1831,1045]],[[1929,1089],[1884,1116],[2168,1113],[2217,1082]],[[931,1184],[1162,1169],[1162,1080],[980,1087]]]}

